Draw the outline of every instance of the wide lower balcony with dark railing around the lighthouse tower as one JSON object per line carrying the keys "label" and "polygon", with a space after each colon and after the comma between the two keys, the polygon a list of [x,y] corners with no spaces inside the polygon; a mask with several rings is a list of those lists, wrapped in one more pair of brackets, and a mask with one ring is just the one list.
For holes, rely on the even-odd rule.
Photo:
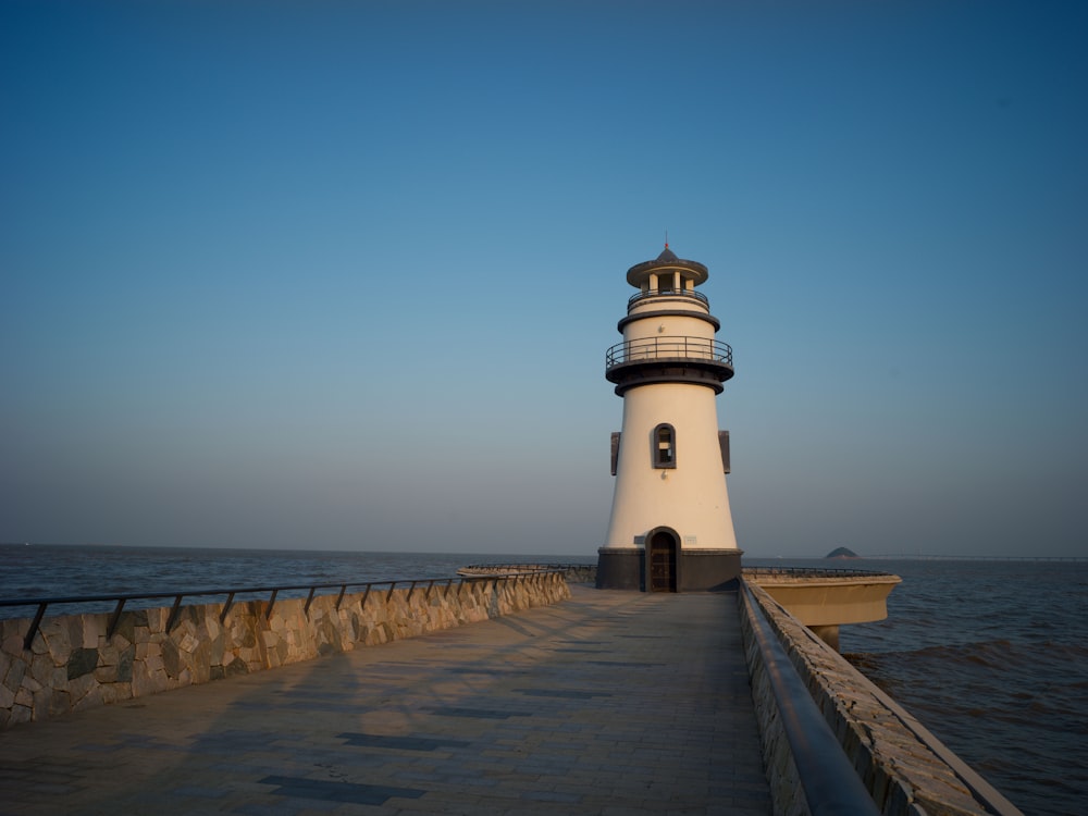
{"label": "wide lower balcony with dark railing around the lighthouse tower", "polygon": [[722,391],[733,375],[733,349],[706,337],[655,336],[617,343],[605,353],[605,378],[616,394],[648,383],[694,383]]}

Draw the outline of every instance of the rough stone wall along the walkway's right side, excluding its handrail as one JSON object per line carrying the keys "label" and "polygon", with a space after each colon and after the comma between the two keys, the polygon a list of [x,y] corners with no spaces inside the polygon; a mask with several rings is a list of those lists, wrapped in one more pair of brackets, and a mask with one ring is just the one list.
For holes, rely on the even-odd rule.
{"label": "rough stone wall along the walkway's right side, excluding its handrail", "polygon": [[[1019,813],[766,592],[751,583],[749,588],[886,816]],[[801,794],[796,768],[778,722],[775,697],[766,682],[758,645],[753,642],[752,621],[743,604],[741,625],[776,813],[805,814],[807,804]]]}

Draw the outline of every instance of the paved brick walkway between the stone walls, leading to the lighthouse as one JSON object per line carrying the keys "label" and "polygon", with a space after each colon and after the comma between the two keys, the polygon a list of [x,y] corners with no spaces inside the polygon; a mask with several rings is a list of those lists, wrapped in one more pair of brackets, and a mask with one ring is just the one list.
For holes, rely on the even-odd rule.
{"label": "paved brick walkway between the stone walls, leading to the lighthouse", "polygon": [[768,814],[735,595],[554,607],[0,732],[0,814]]}

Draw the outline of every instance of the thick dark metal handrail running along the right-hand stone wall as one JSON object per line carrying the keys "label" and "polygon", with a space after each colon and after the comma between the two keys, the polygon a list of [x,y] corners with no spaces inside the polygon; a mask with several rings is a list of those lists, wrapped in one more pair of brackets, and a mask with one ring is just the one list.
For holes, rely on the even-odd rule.
{"label": "thick dark metal handrail running along the right-hand stone wall", "polygon": [[880,808],[805,688],[763,607],[746,583],[741,581],[741,586],[743,603],[752,621],[752,634],[759,646],[808,812],[813,816],[840,816],[844,813],[878,816]]}

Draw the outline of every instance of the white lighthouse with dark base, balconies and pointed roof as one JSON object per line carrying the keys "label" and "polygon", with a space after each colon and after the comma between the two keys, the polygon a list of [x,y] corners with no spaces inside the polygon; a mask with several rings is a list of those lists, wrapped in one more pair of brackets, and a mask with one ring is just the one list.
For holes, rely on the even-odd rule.
{"label": "white lighthouse with dark base, balconies and pointed roof", "polygon": [[616,492],[597,551],[599,589],[720,590],[740,576],[726,490],[729,434],[717,415],[733,357],[696,289],[708,276],[668,244],[627,272],[636,292],[617,326],[623,341],[605,355],[623,422],[611,441]]}

